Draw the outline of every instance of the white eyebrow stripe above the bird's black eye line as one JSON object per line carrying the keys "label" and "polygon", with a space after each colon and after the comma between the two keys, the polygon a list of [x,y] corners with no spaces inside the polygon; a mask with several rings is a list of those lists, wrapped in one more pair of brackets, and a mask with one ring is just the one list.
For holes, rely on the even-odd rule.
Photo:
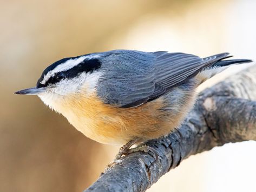
{"label": "white eyebrow stripe above the bird's black eye line", "polygon": [[90,59],[90,58],[97,58],[99,57],[99,55],[87,55],[87,56],[81,56],[75,59],[69,59],[67,61],[65,61],[64,63],[58,65],[56,68],[54,68],[53,70],[49,71],[43,78],[43,80],[40,82],[41,84],[45,84],[50,77],[54,76],[57,72],[61,72],[61,71],[67,71],[73,67],[75,67],[76,65],[80,64],[81,62],[84,61],[84,59]]}

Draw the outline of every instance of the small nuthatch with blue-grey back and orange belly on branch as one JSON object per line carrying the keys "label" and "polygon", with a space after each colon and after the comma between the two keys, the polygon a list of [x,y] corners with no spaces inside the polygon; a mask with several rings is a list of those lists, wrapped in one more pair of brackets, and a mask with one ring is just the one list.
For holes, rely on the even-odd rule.
{"label": "small nuthatch with blue-grey back and orange belly on branch", "polygon": [[100,143],[132,145],[178,129],[196,101],[196,88],[232,64],[227,52],[200,58],[182,52],[111,50],[63,58],[47,67],[37,95],[82,134]]}

